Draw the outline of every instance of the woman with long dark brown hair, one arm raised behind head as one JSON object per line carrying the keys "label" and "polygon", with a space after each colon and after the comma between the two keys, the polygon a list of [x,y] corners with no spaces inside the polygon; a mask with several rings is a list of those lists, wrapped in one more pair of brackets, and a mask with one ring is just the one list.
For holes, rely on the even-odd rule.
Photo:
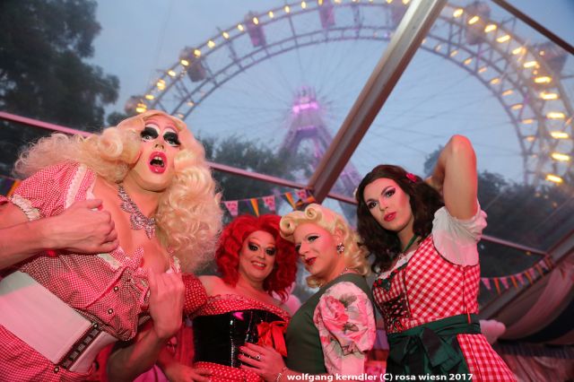
{"label": "woman with long dark brown hair, one arm raised behind head", "polygon": [[377,166],[356,198],[359,234],[378,272],[373,297],[388,334],[387,372],[515,380],[476,316],[476,243],[486,214],[470,141],[453,136],[425,181],[398,166]]}

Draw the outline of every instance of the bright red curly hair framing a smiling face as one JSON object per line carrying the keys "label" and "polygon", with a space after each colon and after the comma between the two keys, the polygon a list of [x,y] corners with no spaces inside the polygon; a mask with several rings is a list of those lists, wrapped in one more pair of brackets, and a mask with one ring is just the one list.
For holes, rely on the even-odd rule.
{"label": "bright red curly hair framing a smiling face", "polygon": [[235,286],[239,279],[239,252],[243,242],[253,232],[263,230],[275,239],[277,252],[273,271],[265,278],[263,289],[270,295],[275,292],[284,302],[289,297],[288,289],[295,281],[297,273],[297,254],[293,244],[279,234],[281,216],[265,214],[259,217],[240,215],[231,221],[222,231],[215,252],[217,270],[222,274],[223,282]]}

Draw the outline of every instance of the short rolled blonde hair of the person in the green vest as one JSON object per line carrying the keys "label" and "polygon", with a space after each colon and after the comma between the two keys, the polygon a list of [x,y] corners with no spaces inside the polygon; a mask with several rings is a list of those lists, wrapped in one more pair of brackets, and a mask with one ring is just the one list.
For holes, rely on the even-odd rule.
{"label": "short rolled blonde hair of the person in the green vest", "polygon": [[[281,236],[284,239],[295,242],[293,234],[300,224],[313,223],[334,234],[340,231],[343,235],[344,265],[349,269],[354,269],[365,276],[370,273],[369,261],[367,260],[367,250],[359,246],[359,236],[349,227],[343,216],[323,207],[319,204],[309,204],[305,211],[293,211],[287,213],[279,222]],[[322,280],[314,276],[307,278],[309,287],[317,287]]]}

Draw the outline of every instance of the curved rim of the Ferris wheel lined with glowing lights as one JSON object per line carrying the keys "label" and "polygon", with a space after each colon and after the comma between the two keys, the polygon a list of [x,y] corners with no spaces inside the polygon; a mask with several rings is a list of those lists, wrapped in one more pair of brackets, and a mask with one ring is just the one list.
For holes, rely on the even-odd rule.
{"label": "curved rim of the Ferris wheel lined with glowing lights", "polygon": [[[136,111],[141,112],[148,108],[164,109],[185,119],[223,83],[272,56],[322,42],[348,39],[389,40],[396,24],[391,24],[388,17],[382,25],[355,23],[346,26],[330,26],[325,29],[319,24],[318,29],[304,34],[297,33],[291,18],[304,13],[324,12],[322,8],[325,7],[331,7],[334,10],[352,7],[352,11],[357,12],[363,7],[375,6],[382,7],[391,13],[397,9],[400,11],[398,7],[405,9],[406,5],[403,3],[396,1],[393,4],[392,0],[390,2],[381,0],[378,3],[374,1],[369,3],[298,2],[276,7],[266,13],[249,13],[249,18],[247,19],[246,16],[244,22],[239,22],[227,30],[220,30],[218,34],[205,40],[197,48],[187,48],[190,55],[188,60],[187,57],[180,57],[180,60],[171,65],[170,69],[162,72],[160,78],[148,89],[145,96],[139,99]],[[443,30],[437,28],[438,21],[427,38],[423,40],[421,48],[446,58],[469,74],[473,74],[499,100],[517,133],[518,143],[523,153],[527,183],[537,183],[540,180],[540,174],[544,174],[546,180],[556,183],[561,183],[564,175],[573,178],[571,158],[574,155],[574,145],[572,144],[571,116],[574,112],[561,82],[556,81],[558,75],[550,75],[552,69],[546,64],[540,52],[535,51],[535,47],[527,47],[523,39],[513,35],[513,32],[501,23],[481,17],[479,13],[469,13],[466,11],[467,8],[452,4],[445,5],[439,15],[439,21],[447,22],[456,30],[453,32],[452,28],[449,28],[448,35],[441,36],[440,31]],[[237,56],[233,41],[249,33],[249,28],[262,29],[285,19],[290,22],[292,32],[286,39],[265,43],[261,47],[252,48],[244,56]],[[490,57],[479,56],[469,46],[470,44],[465,43],[465,28],[469,26],[480,27],[483,32],[481,41],[490,48]],[[320,39],[315,39],[317,36]],[[455,37],[458,40],[454,39]],[[207,66],[209,76],[198,82],[192,91],[187,90],[184,82],[187,79],[187,71],[191,67],[190,61],[196,60],[202,63],[203,68],[205,60],[223,48],[229,49],[232,53],[230,62],[216,72],[211,72]],[[489,75],[492,71],[497,75]],[[539,72],[542,74],[536,75]],[[162,104],[161,100],[173,87],[183,88],[183,91],[182,89],[179,91],[185,93],[186,96],[180,97],[177,106],[168,108]],[[513,93],[520,94],[522,100],[517,102],[516,97],[509,97]],[[513,98],[515,101],[509,101]],[[561,152],[557,151],[559,146]],[[564,146],[567,146],[566,149]]]}

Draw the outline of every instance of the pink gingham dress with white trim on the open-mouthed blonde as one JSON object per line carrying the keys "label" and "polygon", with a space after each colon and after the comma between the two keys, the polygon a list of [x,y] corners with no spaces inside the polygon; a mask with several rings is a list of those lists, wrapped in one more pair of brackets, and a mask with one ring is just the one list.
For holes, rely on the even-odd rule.
{"label": "pink gingham dress with white trim on the open-mouthed blonde", "polygon": [[[0,204],[16,204],[29,220],[57,215],[74,201],[89,198],[95,179],[96,175],[83,165],[61,163],[22,181],[9,200],[0,197]],[[39,254],[17,269],[30,274],[107,333],[127,341],[135,337],[137,327],[149,318],[149,287],[147,273],[140,267],[142,258],[142,248],[127,256],[118,247],[100,255]],[[172,271],[179,272],[175,257],[170,263]],[[2,272],[5,276],[12,271]],[[91,371],[74,373],[59,368],[0,326],[0,378],[3,380],[79,381],[87,378]]]}

